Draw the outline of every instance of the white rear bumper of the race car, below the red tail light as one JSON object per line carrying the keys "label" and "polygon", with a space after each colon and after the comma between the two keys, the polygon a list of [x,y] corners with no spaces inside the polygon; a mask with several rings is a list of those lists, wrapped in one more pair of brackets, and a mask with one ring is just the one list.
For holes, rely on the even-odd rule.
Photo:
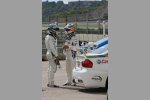
{"label": "white rear bumper of the race car, below the red tail light", "polygon": [[75,82],[82,83],[86,88],[105,87],[106,73],[94,72],[90,69],[73,69]]}

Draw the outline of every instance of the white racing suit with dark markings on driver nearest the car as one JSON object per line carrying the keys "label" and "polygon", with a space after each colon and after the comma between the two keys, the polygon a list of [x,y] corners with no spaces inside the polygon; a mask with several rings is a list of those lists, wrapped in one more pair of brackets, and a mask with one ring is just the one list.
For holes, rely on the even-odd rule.
{"label": "white racing suit with dark markings on driver nearest the car", "polygon": [[[70,34],[70,33],[69,33]],[[77,48],[79,48],[79,41],[77,35],[70,35],[69,38],[66,39],[65,45],[68,45],[69,48],[63,50],[66,55],[66,72],[67,72],[67,83],[72,83],[72,70],[76,66],[76,56],[77,56]]]}

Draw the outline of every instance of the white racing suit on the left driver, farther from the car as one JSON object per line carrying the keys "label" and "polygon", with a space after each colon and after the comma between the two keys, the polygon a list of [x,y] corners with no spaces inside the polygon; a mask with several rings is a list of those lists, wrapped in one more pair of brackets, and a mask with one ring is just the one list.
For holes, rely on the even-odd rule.
{"label": "white racing suit on the left driver, farther from the car", "polygon": [[45,45],[47,48],[47,59],[49,61],[49,67],[48,67],[48,84],[54,85],[54,73],[56,72],[56,63],[55,63],[55,57],[58,56],[57,49],[56,49],[56,39],[51,36],[47,35],[45,37]]}

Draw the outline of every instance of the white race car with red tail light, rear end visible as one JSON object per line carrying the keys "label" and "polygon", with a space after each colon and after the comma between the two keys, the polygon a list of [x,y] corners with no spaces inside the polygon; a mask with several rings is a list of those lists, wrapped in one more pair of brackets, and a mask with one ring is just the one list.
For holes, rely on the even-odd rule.
{"label": "white race car with red tail light, rear end visible", "polygon": [[108,88],[108,44],[93,50],[91,53],[77,57],[73,69],[75,83],[82,83],[86,88]]}

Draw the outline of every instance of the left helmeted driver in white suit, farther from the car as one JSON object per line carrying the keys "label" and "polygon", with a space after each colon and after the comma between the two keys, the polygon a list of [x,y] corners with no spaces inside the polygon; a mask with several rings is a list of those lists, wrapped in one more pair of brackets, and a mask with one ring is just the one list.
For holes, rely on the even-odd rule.
{"label": "left helmeted driver in white suit, farther from the car", "polygon": [[47,30],[47,35],[45,37],[45,45],[47,48],[46,56],[49,61],[48,84],[47,84],[48,87],[59,87],[54,84],[54,73],[56,73],[56,69],[57,69],[55,60],[58,59],[58,54],[56,50],[57,30],[59,30],[59,27],[56,24],[50,24]]}

